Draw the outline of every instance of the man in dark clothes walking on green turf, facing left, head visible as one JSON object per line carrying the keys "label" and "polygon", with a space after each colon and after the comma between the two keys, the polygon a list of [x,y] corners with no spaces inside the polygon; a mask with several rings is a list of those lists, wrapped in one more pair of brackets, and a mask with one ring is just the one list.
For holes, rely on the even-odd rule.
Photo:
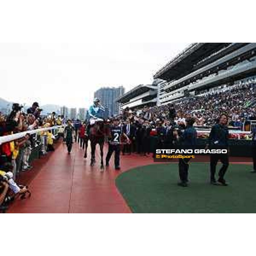
{"label": "man in dark clothes walking on green turf, facing left, head visible", "polygon": [[[216,125],[212,126],[212,130],[209,134],[208,144],[211,145],[211,148],[214,149],[227,149],[228,150],[228,128],[227,128],[227,115],[222,114],[220,116],[219,122]],[[229,150],[228,150],[229,151]],[[215,172],[218,160],[221,161],[222,167],[218,173],[218,182],[215,180]],[[224,180],[224,175],[227,172],[227,168],[229,165],[229,157],[228,154],[211,154],[210,156],[210,173],[211,173],[211,181],[212,185],[222,185],[227,186],[226,180]]]}

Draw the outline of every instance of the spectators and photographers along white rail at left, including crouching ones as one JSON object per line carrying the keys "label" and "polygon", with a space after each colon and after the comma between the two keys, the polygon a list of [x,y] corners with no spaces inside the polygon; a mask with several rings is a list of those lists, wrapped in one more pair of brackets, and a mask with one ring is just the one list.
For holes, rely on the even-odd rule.
{"label": "spectators and photographers along white rail at left, including crouching ones", "polygon": [[39,154],[45,155],[48,151],[54,150],[55,129],[39,133],[31,133],[31,131],[62,125],[63,118],[57,117],[55,112],[49,116],[41,116],[41,111],[39,104],[34,102],[26,112],[17,103],[12,105],[11,113],[0,112],[0,137],[24,133],[19,139],[0,144],[0,210],[5,207],[2,204],[15,198],[15,195],[26,193],[26,186],[17,185],[17,177],[21,172],[31,169],[32,151],[37,148]]}

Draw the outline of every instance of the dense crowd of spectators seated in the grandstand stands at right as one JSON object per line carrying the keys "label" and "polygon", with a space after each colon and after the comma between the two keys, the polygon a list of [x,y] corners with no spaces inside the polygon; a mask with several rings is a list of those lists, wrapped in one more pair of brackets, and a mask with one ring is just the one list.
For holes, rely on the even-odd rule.
{"label": "dense crowd of spectators seated in the grandstand stands at right", "polygon": [[242,128],[244,122],[256,119],[254,83],[241,83],[216,90],[201,96],[191,96],[175,103],[144,107],[142,110],[126,108],[120,120],[139,119],[155,125],[157,122],[172,120],[179,125],[189,117],[195,118],[195,125],[211,126],[221,113],[229,117],[229,126]]}

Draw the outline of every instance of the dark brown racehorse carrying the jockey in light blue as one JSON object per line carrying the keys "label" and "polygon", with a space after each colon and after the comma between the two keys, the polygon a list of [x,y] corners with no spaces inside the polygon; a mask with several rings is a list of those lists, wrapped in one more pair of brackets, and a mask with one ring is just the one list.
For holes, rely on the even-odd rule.
{"label": "dark brown racehorse carrying the jockey in light blue", "polygon": [[100,168],[104,168],[103,163],[103,146],[105,143],[105,137],[108,135],[108,129],[105,126],[104,121],[97,121],[93,126],[89,128],[89,140],[91,146],[91,161],[90,166],[93,166],[95,161],[96,145],[99,144],[100,149]]}

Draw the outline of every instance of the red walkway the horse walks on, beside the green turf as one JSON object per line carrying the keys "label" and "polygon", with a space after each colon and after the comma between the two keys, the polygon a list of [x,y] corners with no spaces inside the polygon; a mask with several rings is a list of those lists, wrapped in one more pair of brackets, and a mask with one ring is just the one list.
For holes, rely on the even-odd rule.
{"label": "red walkway the horse walks on, beside the green turf", "polygon": [[[105,148],[106,154],[107,148]],[[90,152],[90,146],[88,153]],[[121,194],[115,186],[116,176],[136,166],[153,163],[152,157],[136,154],[121,156],[121,171],[110,166],[100,172],[99,148],[96,164],[90,166],[90,153],[84,159],[84,151],[73,144],[67,154],[64,144],[44,159],[33,162],[33,168],[22,173],[22,181],[29,183],[32,197],[16,200],[9,208],[12,213],[129,213]],[[30,173],[29,173],[30,172]]]}

